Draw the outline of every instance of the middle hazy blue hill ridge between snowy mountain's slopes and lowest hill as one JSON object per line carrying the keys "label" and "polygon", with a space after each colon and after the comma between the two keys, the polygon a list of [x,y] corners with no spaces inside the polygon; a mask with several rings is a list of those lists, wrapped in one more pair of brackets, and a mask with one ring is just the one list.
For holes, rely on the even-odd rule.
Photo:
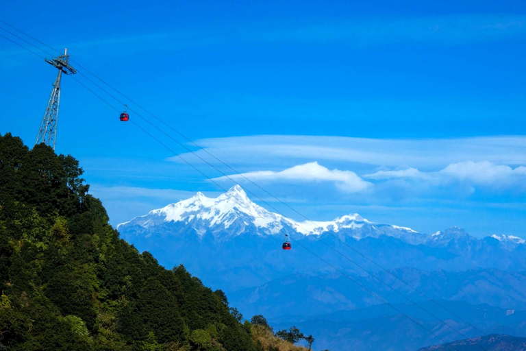
{"label": "middle hazy blue hill ridge between snowy mountain's slopes and lowest hill", "polygon": [[[506,272],[497,269],[482,269],[479,271],[447,272],[422,271],[410,267],[392,271],[412,287],[434,300],[463,301],[468,304],[488,304],[508,309],[526,309],[526,274]],[[392,303],[408,302],[403,295],[416,302],[427,300],[403,283],[395,280],[386,272],[378,272],[377,277],[397,289],[389,289],[383,283],[371,276],[353,276],[381,298]],[[401,295],[402,294],[402,295]],[[364,308],[374,304],[382,304],[380,300],[361,289],[354,282],[339,274],[311,276],[308,274],[293,274],[285,278],[273,280],[264,285],[242,289],[229,294],[232,301],[240,306],[242,311],[250,315],[261,311],[269,318],[278,319],[297,315],[308,317],[322,313],[332,313],[338,310]],[[288,296],[290,310],[283,310],[273,300],[284,300]]]}

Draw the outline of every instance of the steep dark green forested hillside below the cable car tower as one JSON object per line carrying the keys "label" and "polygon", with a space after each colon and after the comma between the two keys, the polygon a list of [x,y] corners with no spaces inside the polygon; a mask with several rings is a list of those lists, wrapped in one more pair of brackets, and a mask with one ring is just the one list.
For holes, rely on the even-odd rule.
{"label": "steep dark green forested hillside below the cable car tower", "polygon": [[119,239],[82,173],[0,136],[0,349],[266,349],[222,291]]}

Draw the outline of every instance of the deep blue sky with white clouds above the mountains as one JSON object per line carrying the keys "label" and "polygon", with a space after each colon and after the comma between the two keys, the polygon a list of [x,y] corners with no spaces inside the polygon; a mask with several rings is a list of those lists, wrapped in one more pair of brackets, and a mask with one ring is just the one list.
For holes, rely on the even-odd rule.
{"label": "deep blue sky with white clouds above the mountains", "polygon": [[[0,19],[68,47],[219,169],[131,113],[217,186],[64,77],[57,151],[81,161],[114,224],[234,184],[210,153],[309,219],[526,237],[523,1],[95,1],[60,16],[25,1]],[[2,134],[34,143],[55,74],[0,38]]]}

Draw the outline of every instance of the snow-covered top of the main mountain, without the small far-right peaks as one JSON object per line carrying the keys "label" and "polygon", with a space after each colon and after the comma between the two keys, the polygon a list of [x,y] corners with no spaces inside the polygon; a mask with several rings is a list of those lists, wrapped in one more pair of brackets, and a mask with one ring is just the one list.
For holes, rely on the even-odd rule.
{"label": "snow-covered top of the main mountain, without the small far-right peaks", "polygon": [[136,228],[136,231],[147,236],[153,232],[179,234],[190,230],[201,236],[211,233],[218,239],[245,233],[289,234],[297,237],[325,232],[354,239],[388,235],[408,243],[422,243],[427,237],[410,228],[373,223],[357,213],[333,221],[295,221],[255,204],[239,185],[216,198],[197,193],[190,199],[152,210],[147,215],[117,226],[121,231],[129,231],[130,228]]}

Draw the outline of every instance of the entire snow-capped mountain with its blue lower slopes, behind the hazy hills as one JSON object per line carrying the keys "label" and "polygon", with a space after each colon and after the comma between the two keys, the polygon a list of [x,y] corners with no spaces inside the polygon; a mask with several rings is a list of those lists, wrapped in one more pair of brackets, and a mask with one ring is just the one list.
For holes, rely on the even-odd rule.
{"label": "entire snow-capped mountain with its blue lower slopes, behind the hazy hills", "polygon": [[[124,239],[153,252],[163,265],[182,263],[207,284],[225,291],[257,287],[291,270],[310,275],[331,271],[301,245],[346,274],[358,275],[364,271],[349,259],[370,271],[379,267],[367,258],[385,269],[427,271],[523,270],[526,263],[526,245],[520,241],[476,239],[462,228],[428,235],[356,214],[334,221],[297,222],[254,204],[239,186],[216,199],[199,193],[117,228]],[[284,233],[293,241],[286,254],[281,252]]]}

